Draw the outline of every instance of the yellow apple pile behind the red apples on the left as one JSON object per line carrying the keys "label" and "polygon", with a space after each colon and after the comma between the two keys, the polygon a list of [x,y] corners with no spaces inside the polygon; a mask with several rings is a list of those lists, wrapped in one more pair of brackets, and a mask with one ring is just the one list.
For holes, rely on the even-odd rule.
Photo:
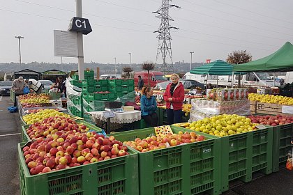
{"label": "yellow apple pile behind the red apples on the left", "polygon": [[22,119],[24,120],[27,125],[31,125],[33,123],[41,122],[45,118],[50,118],[54,116],[63,116],[66,118],[70,118],[70,115],[59,112],[55,109],[44,109],[42,111],[38,111],[37,113],[34,114],[27,114],[22,116]]}

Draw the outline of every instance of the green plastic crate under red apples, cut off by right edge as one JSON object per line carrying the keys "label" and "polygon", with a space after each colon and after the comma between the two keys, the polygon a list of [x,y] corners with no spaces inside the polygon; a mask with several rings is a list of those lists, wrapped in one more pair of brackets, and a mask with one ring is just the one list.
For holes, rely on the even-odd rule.
{"label": "green plastic crate under red apples, cut off by right edge", "polygon": [[285,167],[288,151],[292,149],[293,123],[273,127],[273,172]]}

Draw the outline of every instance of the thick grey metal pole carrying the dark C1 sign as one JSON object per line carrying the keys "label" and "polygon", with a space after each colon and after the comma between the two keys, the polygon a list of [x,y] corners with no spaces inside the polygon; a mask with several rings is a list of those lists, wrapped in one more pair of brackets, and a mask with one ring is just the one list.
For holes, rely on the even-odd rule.
{"label": "thick grey metal pole carrying the dark C1 sign", "polygon": [[[76,1],[76,16],[82,17],[82,0]],[[82,32],[77,32],[77,59],[78,59],[78,76],[80,80],[84,79],[84,43]]]}

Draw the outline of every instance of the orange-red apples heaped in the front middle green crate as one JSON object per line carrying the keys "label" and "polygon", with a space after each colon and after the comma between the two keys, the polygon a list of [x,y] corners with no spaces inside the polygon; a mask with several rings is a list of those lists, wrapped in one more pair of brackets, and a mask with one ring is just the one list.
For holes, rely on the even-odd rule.
{"label": "orange-red apples heaped in the front middle green crate", "polygon": [[131,148],[134,148],[141,153],[151,150],[158,150],[170,146],[178,146],[183,143],[193,143],[203,141],[205,138],[202,135],[197,135],[195,132],[179,132],[178,134],[167,133],[165,137],[151,136],[145,139],[137,138],[135,141],[124,141],[123,143]]}

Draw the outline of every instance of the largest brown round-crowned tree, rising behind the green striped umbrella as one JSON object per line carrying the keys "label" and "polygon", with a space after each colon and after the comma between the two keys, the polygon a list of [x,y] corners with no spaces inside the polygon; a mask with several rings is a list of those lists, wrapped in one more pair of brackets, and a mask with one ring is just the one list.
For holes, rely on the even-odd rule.
{"label": "largest brown round-crowned tree, rising behind the green striped umbrella", "polygon": [[[227,58],[227,63],[231,64],[241,64],[241,63],[247,63],[253,59],[253,56],[246,52],[246,50],[241,50],[241,51],[233,51],[228,55]],[[238,87],[241,87],[240,83],[241,77],[238,77]]]}

